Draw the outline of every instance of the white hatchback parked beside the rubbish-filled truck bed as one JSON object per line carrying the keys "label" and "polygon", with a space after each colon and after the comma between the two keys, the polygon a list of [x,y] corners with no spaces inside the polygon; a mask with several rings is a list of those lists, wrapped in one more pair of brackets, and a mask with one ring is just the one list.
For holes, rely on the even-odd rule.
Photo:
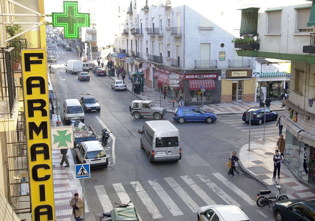
{"label": "white hatchback parked beside the rubbish-filled truck bed", "polygon": [[107,154],[98,140],[81,142],[75,147],[75,151],[81,164],[90,164],[91,168],[108,166]]}

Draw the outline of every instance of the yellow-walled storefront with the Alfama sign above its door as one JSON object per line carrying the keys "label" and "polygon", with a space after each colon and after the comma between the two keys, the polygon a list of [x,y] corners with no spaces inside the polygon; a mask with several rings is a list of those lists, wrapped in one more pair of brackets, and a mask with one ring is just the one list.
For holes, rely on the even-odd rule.
{"label": "yellow-walled storefront with the Alfama sign above its door", "polygon": [[255,78],[252,70],[226,70],[226,78],[222,79],[222,103],[234,101],[250,102],[255,99]]}

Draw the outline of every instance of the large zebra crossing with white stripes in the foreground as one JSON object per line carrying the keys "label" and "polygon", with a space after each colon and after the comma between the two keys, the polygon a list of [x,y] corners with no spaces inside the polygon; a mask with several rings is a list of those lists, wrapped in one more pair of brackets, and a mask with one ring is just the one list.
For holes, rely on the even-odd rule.
{"label": "large zebra crossing with white stripes in the foreground", "polygon": [[[131,181],[125,184],[114,183],[112,184],[114,191],[111,191],[111,187],[107,187],[107,190],[110,191],[109,193],[106,193],[103,185],[95,186],[94,188],[100,200],[100,204],[103,207],[103,211],[113,209],[112,205],[115,202],[111,202],[110,199],[115,198],[113,197],[114,194],[117,194],[122,203],[126,203],[130,201],[130,197],[134,199],[136,193],[140,200],[133,200],[133,203],[136,205],[132,204],[132,206],[136,208],[138,206],[142,208],[145,206],[147,212],[150,213],[153,219],[183,215],[184,212],[187,213],[187,208],[180,207],[184,207],[185,205],[193,213],[196,213],[200,206],[205,205],[256,205],[254,198],[252,199],[234,183],[226,179],[225,176],[220,173],[212,173],[210,176],[211,177],[207,177],[203,174],[196,174],[192,177],[187,175],[164,177],[165,182],[163,182],[163,180],[160,182],[147,180],[142,183],[139,181]],[[222,188],[227,187],[225,191],[218,186],[220,184],[223,186]],[[130,191],[131,188],[128,188],[129,185],[132,186],[135,192]],[[127,192],[125,188],[129,189],[129,192]],[[109,197],[109,195],[111,197]],[[196,196],[198,196],[198,199],[196,199]],[[235,199],[233,199],[233,197],[235,197]],[[169,212],[165,213],[165,211]],[[140,218],[139,214],[138,216]]]}

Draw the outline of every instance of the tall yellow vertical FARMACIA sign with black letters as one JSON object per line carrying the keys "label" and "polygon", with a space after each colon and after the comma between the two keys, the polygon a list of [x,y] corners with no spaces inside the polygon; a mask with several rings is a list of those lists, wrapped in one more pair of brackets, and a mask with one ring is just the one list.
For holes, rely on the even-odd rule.
{"label": "tall yellow vertical FARMACIA sign with black letters", "polygon": [[22,50],[32,220],[55,220],[45,50]]}

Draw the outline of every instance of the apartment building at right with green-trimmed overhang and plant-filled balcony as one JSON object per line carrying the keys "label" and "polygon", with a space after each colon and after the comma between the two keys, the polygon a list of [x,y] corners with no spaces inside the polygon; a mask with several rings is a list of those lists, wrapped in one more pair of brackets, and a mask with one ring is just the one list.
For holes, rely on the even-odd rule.
{"label": "apartment building at right with green-trimmed overhang and plant-filled balcony", "polygon": [[[248,23],[248,10],[255,11],[260,39],[259,50],[237,50],[238,55],[291,61],[289,99],[282,100],[285,111],[281,122],[286,128],[284,159],[300,180],[314,186],[315,2],[238,2],[242,23]],[[303,169],[305,147],[307,175]]]}

